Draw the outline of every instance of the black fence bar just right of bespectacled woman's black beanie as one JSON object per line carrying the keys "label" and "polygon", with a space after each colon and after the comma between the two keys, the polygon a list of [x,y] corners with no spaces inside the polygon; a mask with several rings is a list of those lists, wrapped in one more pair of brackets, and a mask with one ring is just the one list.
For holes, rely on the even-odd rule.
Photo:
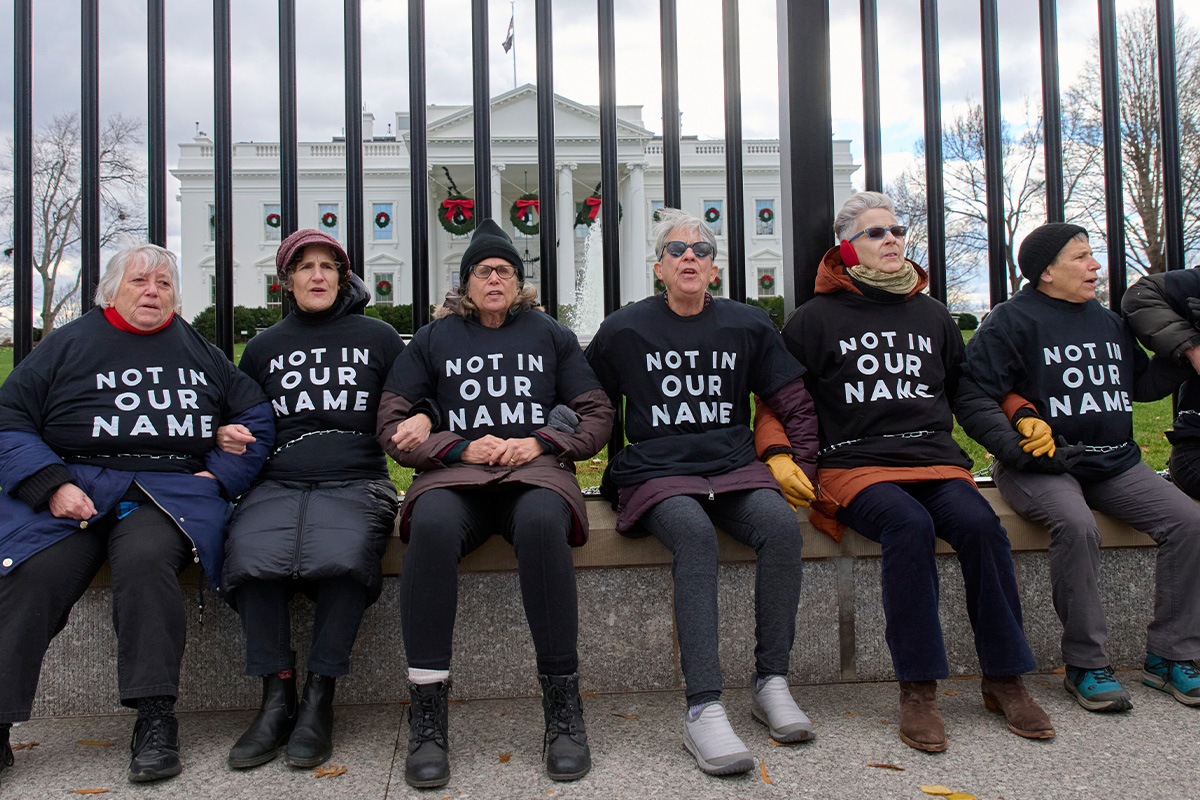
{"label": "black fence bar just right of bespectacled woman's black beanie", "polygon": [[538,40],[538,242],[541,303],[558,317],[558,203],[554,194],[554,26],[550,0],[534,4]]}

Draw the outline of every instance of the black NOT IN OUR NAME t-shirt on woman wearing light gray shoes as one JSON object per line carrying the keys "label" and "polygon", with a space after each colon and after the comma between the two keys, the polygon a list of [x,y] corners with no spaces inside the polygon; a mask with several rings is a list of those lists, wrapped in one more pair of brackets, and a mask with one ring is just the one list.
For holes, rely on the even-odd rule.
{"label": "black NOT IN OUR NAME t-shirt on woman wearing light gray shoes", "polygon": [[751,392],[769,397],[804,374],[766,312],[724,297],[691,317],[646,297],[610,314],[587,355],[614,405],[626,398],[635,444],[749,426]]}

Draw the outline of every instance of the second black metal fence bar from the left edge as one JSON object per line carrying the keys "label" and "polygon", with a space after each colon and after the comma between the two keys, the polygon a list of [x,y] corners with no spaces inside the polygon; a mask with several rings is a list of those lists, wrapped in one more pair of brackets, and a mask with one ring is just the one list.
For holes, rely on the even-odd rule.
{"label": "second black metal fence bar from the left edge", "polygon": [[82,0],[79,32],[79,307],[100,282],[100,0]]}

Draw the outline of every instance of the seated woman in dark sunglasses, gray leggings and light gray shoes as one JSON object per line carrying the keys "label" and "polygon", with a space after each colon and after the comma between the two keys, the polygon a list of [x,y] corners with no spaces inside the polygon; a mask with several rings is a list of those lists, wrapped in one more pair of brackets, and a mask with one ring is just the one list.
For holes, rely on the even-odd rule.
{"label": "seated woman in dark sunglasses, gray leggings and light gray shoes", "polygon": [[612,403],[625,404],[630,444],[606,473],[619,497],[617,530],[653,534],[672,553],[684,744],[704,772],[732,775],[755,762],[721,703],[714,523],[758,555],[754,717],[776,741],[811,739],[812,722],[787,687],[802,535],[772,469],[755,458],[750,392],[767,397],[796,443],[794,461],[772,465],[794,504],[812,499],[804,470],[812,471],[816,421],[804,368],[767,314],[708,294],[718,277],[712,229],[678,209],[659,219],[654,272],[666,290],[605,319],[587,356]]}

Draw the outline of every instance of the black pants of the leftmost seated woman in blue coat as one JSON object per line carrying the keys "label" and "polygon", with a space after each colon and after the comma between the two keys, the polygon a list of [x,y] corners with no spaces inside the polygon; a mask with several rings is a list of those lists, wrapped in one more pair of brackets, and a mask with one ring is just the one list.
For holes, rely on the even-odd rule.
{"label": "black pants of the leftmost seated woman in blue coat", "polygon": [[121,704],[179,696],[187,632],[179,573],[192,548],[152,504],[109,513],[0,578],[0,723],[29,718],[42,658],[96,572],[113,570],[113,627]]}

